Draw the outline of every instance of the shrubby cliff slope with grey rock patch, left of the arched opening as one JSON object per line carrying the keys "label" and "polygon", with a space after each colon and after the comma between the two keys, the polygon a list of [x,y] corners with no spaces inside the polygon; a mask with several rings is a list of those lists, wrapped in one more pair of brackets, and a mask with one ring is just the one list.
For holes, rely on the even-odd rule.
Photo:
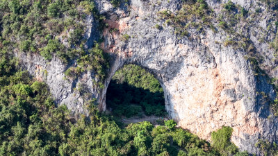
{"label": "shrubby cliff slope with grey rock patch, left of the arched opening", "polygon": [[[72,107],[76,107],[77,100],[72,98],[81,96],[86,105],[92,99],[88,88],[103,88],[109,68],[109,56],[97,43],[97,34],[105,26],[104,19],[92,0],[0,1],[0,47],[10,57],[18,57],[23,69],[44,80],[54,101],[65,104],[71,101]],[[95,35],[88,35],[88,27]],[[37,61],[34,64],[24,64],[34,60]],[[56,76],[51,76],[52,73]],[[89,85],[78,81],[90,73],[94,78],[86,81]],[[58,82],[60,85],[55,84]],[[65,99],[65,92],[75,93]]]}

